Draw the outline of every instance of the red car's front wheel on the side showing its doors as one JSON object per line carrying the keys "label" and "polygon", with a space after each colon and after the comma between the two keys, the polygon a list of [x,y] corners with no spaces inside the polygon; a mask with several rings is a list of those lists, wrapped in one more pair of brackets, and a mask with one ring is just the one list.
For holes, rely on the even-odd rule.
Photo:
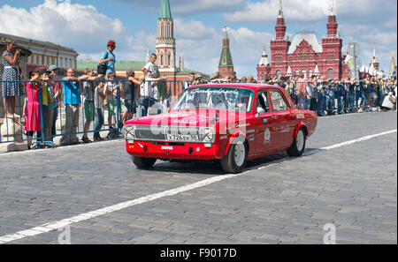
{"label": "red car's front wheel on the side showing its doors", "polygon": [[221,159],[221,167],[230,174],[238,174],[246,167],[248,161],[248,145],[243,141],[233,143],[228,153]]}

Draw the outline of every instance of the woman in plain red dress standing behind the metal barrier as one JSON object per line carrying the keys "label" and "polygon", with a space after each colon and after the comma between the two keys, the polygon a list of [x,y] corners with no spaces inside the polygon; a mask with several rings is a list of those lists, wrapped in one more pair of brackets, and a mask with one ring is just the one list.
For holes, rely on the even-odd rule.
{"label": "woman in plain red dress standing behind the metal barrier", "polygon": [[31,71],[27,83],[27,105],[25,107],[25,130],[27,131],[27,148],[32,147],[32,138],[34,132],[37,132],[37,138],[42,137],[42,126],[40,123],[40,102],[39,90],[42,88],[36,81],[39,80],[39,71]]}

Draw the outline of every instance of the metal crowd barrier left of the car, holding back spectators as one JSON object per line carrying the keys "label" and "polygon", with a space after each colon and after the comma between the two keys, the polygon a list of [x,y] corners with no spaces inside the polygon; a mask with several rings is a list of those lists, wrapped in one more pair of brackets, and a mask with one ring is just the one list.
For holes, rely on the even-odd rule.
{"label": "metal crowd barrier left of the car, holding back spectators", "polygon": [[[0,81],[0,86],[3,85],[4,82],[12,82],[12,81]],[[96,132],[103,132],[108,131],[108,138],[117,138],[120,135],[121,129],[123,127],[122,120],[129,120],[133,117],[140,117],[140,116],[148,116],[163,113],[168,110],[172,104],[177,101],[178,96],[184,90],[184,83],[182,81],[145,81],[141,86],[132,85],[130,87],[133,88],[132,92],[125,92],[124,88],[126,88],[127,84],[129,83],[128,80],[120,80],[117,82],[116,80],[95,80],[95,81],[88,81],[88,80],[81,80],[79,81],[79,89],[80,92],[75,91],[73,92],[66,92],[65,86],[70,84],[73,81],[65,81],[65,80],[51,80],[48,83],[50,86],[56,86],[57,84],[61,86],[62,95],[59,97],[59,100],[56,101],[56,106],[51,111],[52,124],[48,124],[46,126],[45,120],[46,114],[48,114],[48,106],[43,105],[43,92],[42,86],[45,82],[32,82],[32,81],[13,81],[12,83],[19,83],[22,85],[23,95],[15,96],[16,100],[16,110],[14,112],[14,116],[19,116],[19,120],[13,121],[13,117],[7,116],[6,107],[8,105],[4,105],[4,124],[6,125],[6,132],[2,134],[0,137],[0,143],[8,143],[8,142],[20,142],[24,141],[27,142],[35,141],[32,146],[34,147],[55,147],[56,145],[53,142],[53,139],[56,137],[61,137],[61,146],[63,145],[63,141],[65,145],[76,144],[79,142],[79,138],[77,135],[81,134],[88,134],[88,133],[96,133]],[[40,88],[30,88],[30,95],[27,95],[27,84],[33,86],[41,86]],[[102,83],[102,84],[100,84]],[[87,94],[83,95],[83,89],[85,85],[92,85],[90,88],[94,88],[94,96],[88,98]],[[111,94],[107,95],[107,98],[103,100],[103,105],[97,112],[97,105],[96,105],[96,87],[103,85],[112,88]],[[123,87],[122,87],[123,86]],[[141,95],[142,89],[145,86],[151,86],[149,88],[149,93],[146,95]],[[101,87],[100,87],[101,88]],[[114,89],[114,90],[113,90]],[[124,96],[122,94],[127,94]],[[76,95],[80,94],[80,96]],[[45,95],[45,94],[44,94]],[[29,101],[28,101],[28,96]],[[47,97],[49,97],[47,95]],[[149,100],[149,99],[153,99]],[[30,101],[32,100],[32,101]],[[2,100],[3,101],[3,100]],[[70,103],[64,104],[65,101],[71,101]],[[88,103],[89,101],[90,103]],[[126,109],[126,103],[129,103],[129,109]],[[94,103],[94,112],[93,112],[93,103]],[[52,105],[52,103],[51,103]],[[27,107],[31,107],[31,109],[27,109]],[[36,110],[38,108],[38,110]],[[34,109],[34,110],[33,110]],[[158,109],[158,110],[157,110]],[[145,110],[145,111],[144,111]],[[29,114],[36,114],[38,111],[39,116],[29,116]],[[129,111],[133,111],[133,116],[128,117],[128,119],[123,118],[125,116],[125,112],[132,113]],[[101,112],[103,121],[101,121],[101,116],[98,116]],[[108,121],[107,128],[105,128],[105,113],[107,112]],[[96,114],[98,113],[98,114]],[[93,121],[93,114],[96,115]],[[90,119],[87,119],[86,116],[89,116]],[[34,126],[34,130],[26,130],[25,123],[32,119],[32,123],[27,123],[27,129],[29,128],[29,124]],[[86,121],[89,121],[89,128],[88,130],[84,129]],[[12,121],[12,122],[11,122]],[[40,124],[37,124],[36,121],[40,121]],[[100,130],[96,130],[96,125],[103,122],[102,127]],[[111,122],[111,125],[110,125]],[[11,124],[13,126],[8,126]],[[58,123],[58,126],[57,126]],[[57,127],[60,132],[57,132]],[[51,129],[50,136],[46,135],[48,129]],[[16,130],[20,130],[17,134],[15,134]],[[27,137],[27,131],[34,131],[33,138]]]}

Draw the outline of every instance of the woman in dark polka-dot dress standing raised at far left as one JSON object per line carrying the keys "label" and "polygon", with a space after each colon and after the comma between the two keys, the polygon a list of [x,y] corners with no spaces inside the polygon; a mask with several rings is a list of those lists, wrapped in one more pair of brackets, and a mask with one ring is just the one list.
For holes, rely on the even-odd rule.
{"label": "woman in dark polka-dot dress standing raised at far left", "polygon": [[2,64],[4,65],[2,96],[4,100],[4,108],[6,116],[14,118],[15,114],[15,97],[22,95],[22,86],[19,76],[19,61],[21,50],[16,49],[16,41],[7,39],[5,41],[6,49],[2,56]]}

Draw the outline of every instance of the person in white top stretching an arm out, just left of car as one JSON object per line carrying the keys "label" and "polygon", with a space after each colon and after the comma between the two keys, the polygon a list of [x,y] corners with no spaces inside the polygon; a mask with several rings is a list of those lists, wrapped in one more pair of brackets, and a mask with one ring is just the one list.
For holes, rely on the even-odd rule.
{"label": "person in white top stretching an arm out, just left of car", "polygon": [[141,117],[148,116],[148,109],[158,101],[159,91],[157,89],[157,82],[161,80],[166,80],[166,78],[154,79],[152,71],[146,71],[145,82],[140,87]]}

